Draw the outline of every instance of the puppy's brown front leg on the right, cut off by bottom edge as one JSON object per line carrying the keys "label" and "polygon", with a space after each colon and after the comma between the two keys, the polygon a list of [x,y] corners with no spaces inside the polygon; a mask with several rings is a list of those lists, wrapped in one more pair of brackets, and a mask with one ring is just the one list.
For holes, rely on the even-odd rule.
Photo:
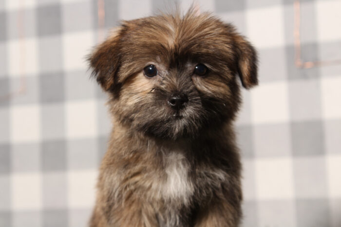
{"label": "puppy's brown front leg on the right, cut off by bottom edge", "polygon": [[194,227],[238,227],[241,210],[226,200],[212,200],[200,209]]}

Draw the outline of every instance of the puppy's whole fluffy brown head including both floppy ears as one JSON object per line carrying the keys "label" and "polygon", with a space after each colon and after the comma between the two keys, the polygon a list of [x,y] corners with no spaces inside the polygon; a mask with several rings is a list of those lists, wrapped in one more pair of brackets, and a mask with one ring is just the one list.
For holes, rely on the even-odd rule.
{"label": "puppy's whole fluffy brown head including both floppy ears", "polygon": [[187,13],[124,21],[89,58],[111,110],[133,130],[177,139],[232,120],[256,52],[229,24]]}

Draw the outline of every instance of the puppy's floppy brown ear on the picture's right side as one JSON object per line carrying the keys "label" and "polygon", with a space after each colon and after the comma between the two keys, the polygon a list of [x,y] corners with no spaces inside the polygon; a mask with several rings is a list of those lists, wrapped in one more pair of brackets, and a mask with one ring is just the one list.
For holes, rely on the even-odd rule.
{"label": "puppy's floppy brown ear on the picture's right side", "polygon": [[235,36],[237,70],[242,85],[249,89],[258,84],[257,52],[242,35]]}

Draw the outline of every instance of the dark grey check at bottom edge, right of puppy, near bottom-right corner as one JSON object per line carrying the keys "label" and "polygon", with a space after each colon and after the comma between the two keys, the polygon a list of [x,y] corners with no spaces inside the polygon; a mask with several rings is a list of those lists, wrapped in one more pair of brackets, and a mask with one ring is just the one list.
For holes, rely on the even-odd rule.
{"label": "dark grey check at bottom edge, right of puppy, near bottom-right corner", "polygon": [[296,210],[298,227],[330,227],[327,199],[298,199]]}

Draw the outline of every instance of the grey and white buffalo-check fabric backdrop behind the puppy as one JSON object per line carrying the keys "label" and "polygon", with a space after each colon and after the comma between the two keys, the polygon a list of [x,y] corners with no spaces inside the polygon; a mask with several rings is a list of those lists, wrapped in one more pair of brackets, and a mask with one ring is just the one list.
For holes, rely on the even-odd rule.
{"label": "grey and white buffalo-check fabric backdrop behind the puppy", "polygon": [[[105,0],[103,34],[172,2]],[[236,122],[243,226],[341,227],[341,65],[295,67],[293,0],[198,2],[260,54]],[[301,0],[304,61],[341,59],[340,12],[341,0]],[[0,0],[0,227],[87,225],[111,128],[84,57],[97,18],[96,0]]]}

